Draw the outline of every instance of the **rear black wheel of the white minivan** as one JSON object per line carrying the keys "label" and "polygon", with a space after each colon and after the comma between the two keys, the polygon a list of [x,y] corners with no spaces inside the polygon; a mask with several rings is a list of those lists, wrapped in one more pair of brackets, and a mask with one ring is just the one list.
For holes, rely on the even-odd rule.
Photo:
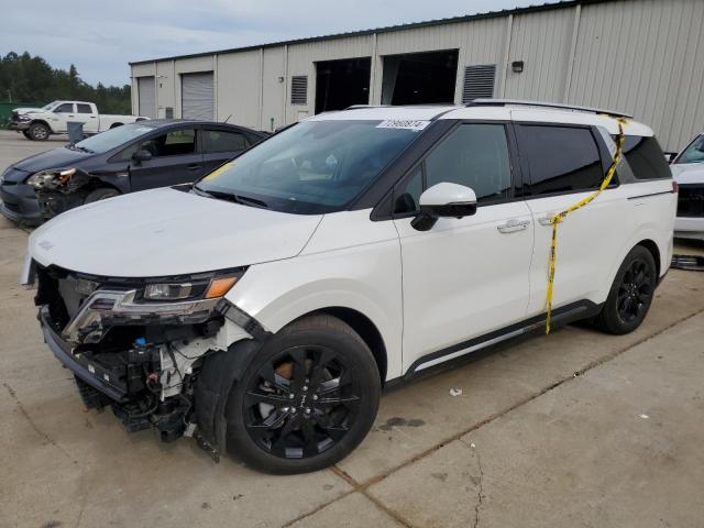
{"label": "rear black wheel of the white minivan", "polygon": [[594,321],[596,328],[616,336],[636,330],[650,309],[657,284],[652,253],[637,245],[618,268],[606,302]]}

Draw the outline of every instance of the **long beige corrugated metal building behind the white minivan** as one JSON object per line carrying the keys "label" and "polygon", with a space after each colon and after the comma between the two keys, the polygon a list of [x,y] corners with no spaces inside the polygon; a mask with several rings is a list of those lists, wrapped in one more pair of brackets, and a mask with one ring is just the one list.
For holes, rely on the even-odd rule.
{"label": "long beige corrugated metal building behind the white minivan", "polygon": [[664,150],[704,129],[704,0],[572,0],[131,63],[132,109],[274,130],[355,103],[612,108]]}

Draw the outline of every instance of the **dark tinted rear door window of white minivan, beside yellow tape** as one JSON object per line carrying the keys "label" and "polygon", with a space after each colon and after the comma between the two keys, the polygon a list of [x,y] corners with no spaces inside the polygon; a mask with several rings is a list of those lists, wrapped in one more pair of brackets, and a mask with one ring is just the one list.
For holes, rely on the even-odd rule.
{"label": "dark tinted rear door window of white minivan, beside yellow tape", "polygon": [[604,167],[590,129],[520,125],[520,155],[528,160],[527,195],[596,189]]}

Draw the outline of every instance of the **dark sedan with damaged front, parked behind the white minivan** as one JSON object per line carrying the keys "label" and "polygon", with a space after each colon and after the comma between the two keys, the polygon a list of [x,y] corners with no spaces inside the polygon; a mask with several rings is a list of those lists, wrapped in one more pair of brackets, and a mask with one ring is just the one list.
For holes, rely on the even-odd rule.
{"label": "dark sedan with damaged front, parked behind the white minivan", "polygon": [[84,204],[195,182],[266,136],[207,121],[125,124],[8,167],[0,177],[0,212],[37,226]]}

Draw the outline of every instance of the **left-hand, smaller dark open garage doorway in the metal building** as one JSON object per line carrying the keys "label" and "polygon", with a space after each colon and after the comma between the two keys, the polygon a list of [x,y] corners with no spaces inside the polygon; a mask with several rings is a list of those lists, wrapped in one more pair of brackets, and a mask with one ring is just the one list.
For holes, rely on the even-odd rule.
{"label": "left-hand, smaller dark open garage doorway in the metal building", "polygon": [[369,105],[371,57],[316,63],[316,113]]}

